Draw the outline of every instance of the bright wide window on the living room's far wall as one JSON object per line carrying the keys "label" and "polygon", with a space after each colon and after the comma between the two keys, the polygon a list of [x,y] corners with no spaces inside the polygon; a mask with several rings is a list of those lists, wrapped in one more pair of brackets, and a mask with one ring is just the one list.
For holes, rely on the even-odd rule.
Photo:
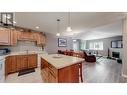
{"label": "bright wide window on the living room's far wall", "polygon": [[90,42],[89,49],[91,49],[91,50],[103,50],[103,42]]}

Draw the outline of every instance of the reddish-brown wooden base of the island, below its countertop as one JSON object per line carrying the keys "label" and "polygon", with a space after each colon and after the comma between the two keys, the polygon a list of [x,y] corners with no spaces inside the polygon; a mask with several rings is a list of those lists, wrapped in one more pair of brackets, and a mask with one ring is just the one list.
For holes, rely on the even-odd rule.
{"label": "reddish-brown wooden base of the island, below its countertop", "polygon": [[[41,76],[43,82],[48,83],[79,83],[81,63],[56,69],[45,59],[41,58]],[[81,67],[81,68],[80,68]],[[82,75],[81,75],[82,77]]]}

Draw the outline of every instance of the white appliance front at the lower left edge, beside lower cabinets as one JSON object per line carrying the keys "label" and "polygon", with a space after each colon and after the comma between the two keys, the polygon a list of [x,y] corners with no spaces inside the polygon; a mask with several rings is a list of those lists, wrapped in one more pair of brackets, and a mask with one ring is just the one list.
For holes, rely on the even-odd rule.
{"label": "white appliance front at the lower left edge, beside lower cabinets", "polygon": [[0,58],[0,83],[3,83],[5,80],[5,59]]}

